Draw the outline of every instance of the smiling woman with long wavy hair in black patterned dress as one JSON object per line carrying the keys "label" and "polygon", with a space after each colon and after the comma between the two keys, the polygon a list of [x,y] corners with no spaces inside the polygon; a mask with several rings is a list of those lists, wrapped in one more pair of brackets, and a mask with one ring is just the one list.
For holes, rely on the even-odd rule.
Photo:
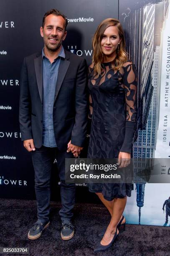
{"label": "smiling woman with long wavy hair in black patterned dress", "polygon": [[[89,67],[92,115],[88,158],[118,158],[119,167],[129,164],[136,120],[137,72],[127,59],[119,20],[108,18],[98,26],[93,39],[93,61]],[[122,215],[132,184],[89,184],[112,218],[94,251],[112,246],[126,220]],[[101,234],[102,236],[102,234]]]}

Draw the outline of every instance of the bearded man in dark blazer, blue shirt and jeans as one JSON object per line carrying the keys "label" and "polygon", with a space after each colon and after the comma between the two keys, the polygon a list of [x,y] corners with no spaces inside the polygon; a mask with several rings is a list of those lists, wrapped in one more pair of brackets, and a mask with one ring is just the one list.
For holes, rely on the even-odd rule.
{"label": "bearded man in dark blazer, blue shirt and jeans", "polygon": [[[75,184],[66,184],[65,158],[78,156],[86,137],[86,61],[64,51],[66,16],[50,10],[40,28],[44,48],[25,57],[20,78],[20,131],[32,153],[35,171],[37,222],[29,239],[37,239],[49,225],[50,176],[55,153],[61,180],[61,238],[74,236],[71,223]],[[74,154],[74,156],[73,156]]]}

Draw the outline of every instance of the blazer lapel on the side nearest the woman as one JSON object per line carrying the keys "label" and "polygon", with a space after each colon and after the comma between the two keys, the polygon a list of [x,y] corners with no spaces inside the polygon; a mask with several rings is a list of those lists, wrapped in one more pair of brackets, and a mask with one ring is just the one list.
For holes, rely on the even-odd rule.
{"label": "blazer lapel on the side nearest the woman", "polygon": [[58,77],[57,77],[57,83],[56,83],[56,93],[55,93],[55,96],[54,96],[54,102],[55,102],[56,97],[58,95],[58,92],[60,90],[63,79],[66,75],[67,69],[69,68],[69,65],[70,65],[70,61],[68,61],[67,59],[69,59],[69,58],[66,58],[66,59],[61,58],[61,60],[60,60],[60,66],[59,66],[59,69],[58,69]]}

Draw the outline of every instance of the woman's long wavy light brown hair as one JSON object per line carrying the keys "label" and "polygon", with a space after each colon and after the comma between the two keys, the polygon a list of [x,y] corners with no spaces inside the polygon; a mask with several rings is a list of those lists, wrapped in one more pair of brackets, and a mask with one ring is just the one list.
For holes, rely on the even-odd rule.
{"label": "woman's long wavy light brown hair", "polygon": [[[120,44],[118,45],[116,51],[117,51],[117,56],[113,60],[112,63],[112,69],[120,69],[123,64],[127,61],[127,52],[125,50],[125,39],[124,39],[124,32],[122,29],[122,25],[120,24],[120,21],[114,18],[107,18],[106,20],[103,20],[97,30],[96,33],[94,34],[93,38],[93,67],[94,67],[94,73],[96,74],[101,74],[101,62],[103,61],[103,53],[101,51],[101,39],[104,34],[104,31],[109,27],[109,26],[117,26],[119,37],[122,39]],[[118,50],[119,48],[119,50]]]}

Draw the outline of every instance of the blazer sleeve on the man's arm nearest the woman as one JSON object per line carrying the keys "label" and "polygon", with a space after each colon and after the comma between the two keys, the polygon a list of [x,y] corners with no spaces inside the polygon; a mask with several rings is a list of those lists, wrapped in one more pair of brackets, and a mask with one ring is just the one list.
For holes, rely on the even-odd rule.
{"label": "blazer sleeve on the man's arm nearest the woman", "polygon": [[71,143],[83,146],[86,139],[87,129],[87,65],[83,59],[79,65],[76,77],[75,91],[75,123],[71,133]]}

